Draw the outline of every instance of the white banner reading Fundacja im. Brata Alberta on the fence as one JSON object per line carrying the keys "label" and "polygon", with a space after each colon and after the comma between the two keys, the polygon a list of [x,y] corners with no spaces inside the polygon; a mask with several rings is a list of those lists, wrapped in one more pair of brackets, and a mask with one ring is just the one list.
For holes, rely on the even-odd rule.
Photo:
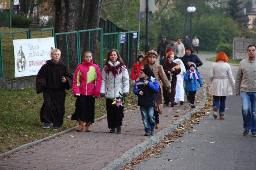
{"label": "white banner reading Fundacja im. Brata Alberta on the fence", "polygon": [[39,69],[51,59],[55,48],[54,37],[13,40],[15,75],[24,77],[37,75]]}

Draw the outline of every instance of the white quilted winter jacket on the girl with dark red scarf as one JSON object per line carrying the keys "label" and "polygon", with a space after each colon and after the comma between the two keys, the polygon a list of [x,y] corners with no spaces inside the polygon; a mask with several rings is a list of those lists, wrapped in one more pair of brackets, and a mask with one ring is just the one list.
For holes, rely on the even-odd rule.
{"label": "white quilted winter jacket on the girl with dark red scarf", "polygon": [[[120,64],[119,61],[115,62],[114,64],[109,60],[108,64],[111,66],[117,66]],[[105,68],[106,65],[102,69],[101,73],[101,88],[100,93],[105,94],[105,98],[112,99],[119,97],[120,93],[129,93],[129,74],[125,66],[122,66],[122,72],[117,74],[116,77],[109,71],[109,74],[106,73]]]}

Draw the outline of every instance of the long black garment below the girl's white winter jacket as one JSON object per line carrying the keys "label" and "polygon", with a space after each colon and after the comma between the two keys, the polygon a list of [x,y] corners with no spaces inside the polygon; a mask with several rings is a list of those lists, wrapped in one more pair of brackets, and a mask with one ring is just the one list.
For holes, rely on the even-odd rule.
{"label": "long black garment below the girl's white winter jacket", "polygon": [[111,99],[106,99],[106,108],[107,108],[107,119],[108,119],[108,128],[116,128],[117,126],[122,126],[122,118],[124,118],[124,106],[116,106],[112,104]]}

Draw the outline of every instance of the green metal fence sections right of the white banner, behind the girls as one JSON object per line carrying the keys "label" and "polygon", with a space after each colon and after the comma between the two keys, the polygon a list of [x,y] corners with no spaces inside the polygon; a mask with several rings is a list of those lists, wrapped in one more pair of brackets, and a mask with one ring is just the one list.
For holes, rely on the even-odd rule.
{"label": "green metal fence sections right of the white banner, behind the girls", "polygon": [[[122,60],[128,69],[132,68],[137,57],[137,37],[134,33],[137,31],[126,31],[119,33],[102,34],[102,28],[88,29],[82,31],[73,31],[68,33],[56,33],[56,47],[61,50],[61,60],[74,72],[76,65],[81,62],[83,53],[91,51],[92,44],[91,34],[98,34],[96,40],[96,53],[93,56],[94,61],[102,70],[104,61],[108,56],[110,49],[117,49]],[[120,35],[125,34],[124,43],[120,43]]]}

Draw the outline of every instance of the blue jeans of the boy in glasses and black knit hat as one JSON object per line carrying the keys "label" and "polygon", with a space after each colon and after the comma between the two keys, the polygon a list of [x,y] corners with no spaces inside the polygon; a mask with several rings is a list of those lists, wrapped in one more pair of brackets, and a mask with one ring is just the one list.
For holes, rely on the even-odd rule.
{"label": "blue jeans of the boy in glasses and black knit hat", "polygon": [[143,120],[143,124],[145,127],[145,132],[151,132],[151,130],[154,130],[155,127],[155,116],[154,116],[154,107],[139,107],[141,110],[141,117]]}

